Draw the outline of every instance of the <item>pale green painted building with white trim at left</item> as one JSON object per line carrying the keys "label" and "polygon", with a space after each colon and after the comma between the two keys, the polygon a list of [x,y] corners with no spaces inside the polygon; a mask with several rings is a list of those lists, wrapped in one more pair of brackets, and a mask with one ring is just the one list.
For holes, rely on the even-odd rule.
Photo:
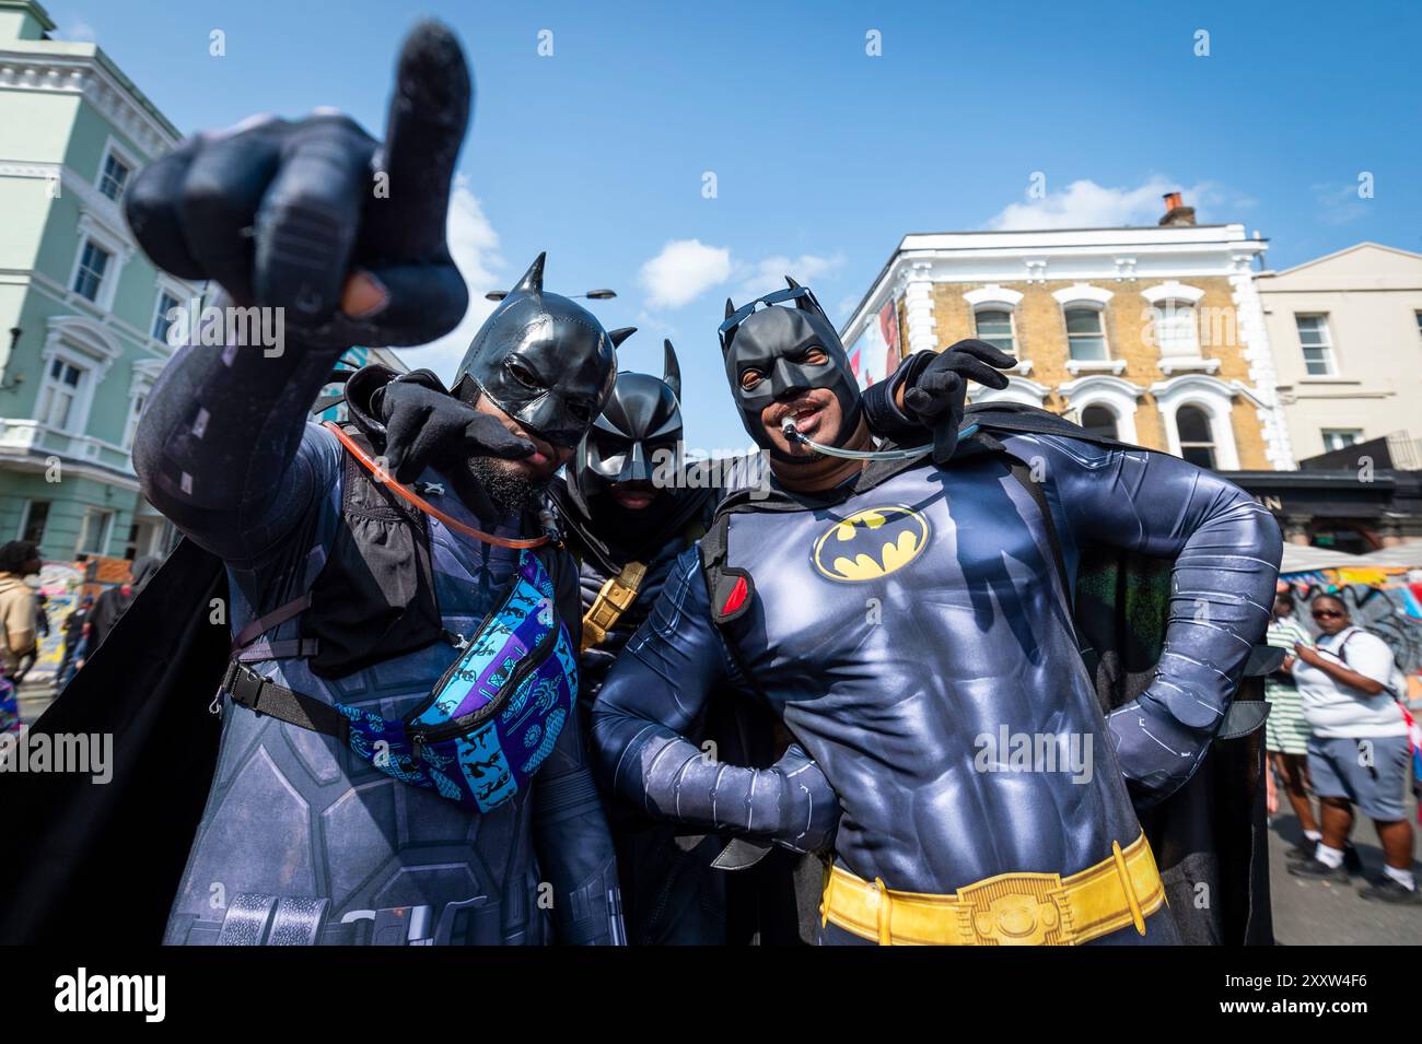
{"label": "pale green painted building with white trim at left", "polygon": [[[48,561],[165,554],[172,526],[129,447],[172,348],[166,317],[205,287],[155,268],[119,202],[178,129],[104,51],[50,40],[0,0],[0,543]],[[353,349],[350,365],[394,352]]]}

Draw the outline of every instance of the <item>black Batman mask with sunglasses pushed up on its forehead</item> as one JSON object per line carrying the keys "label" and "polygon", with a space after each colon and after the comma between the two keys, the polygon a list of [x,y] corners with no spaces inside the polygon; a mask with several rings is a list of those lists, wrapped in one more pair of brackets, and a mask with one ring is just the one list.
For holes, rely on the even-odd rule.
{"label": "black Batman mask with sunglasses pushed up on its forehead", "polygon": [[[778,460],[801,460],[775,447],[761,413],[772,402],[792,399],[811,388],[826,388],[839,401],[843,422],[833,445],[842,446],[855,433],[860,418],[859,384],[849,366],[845,345],[839,342],[835,324],[825,315],[815,294],[785,277],[788,290],[758,297],[739,310],[728,300],[725,322],[721,324],[721,352],[731,395],[741,410],[741,423],[758,446],[771,450]],[[793,301],[793,307],[778,307]],[[757,311],[757,305],[769,307]],[[813,349],[826,355],[820,364],[809,361]],[[758,371],[762,379],[754,388],[742,385],[747,371]]]}

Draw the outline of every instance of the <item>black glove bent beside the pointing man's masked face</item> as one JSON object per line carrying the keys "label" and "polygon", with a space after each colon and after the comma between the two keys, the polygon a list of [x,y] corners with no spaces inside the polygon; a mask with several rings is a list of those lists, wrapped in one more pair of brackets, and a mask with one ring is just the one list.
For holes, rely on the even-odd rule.
{"label": "black glove bent beside the pointing man's masked face", "polygon": [[[429,371],[414,375],[432,378]],[[429,464],[462,463],[469,457],[516,460],[533,452],[503,423],[481,413],[427,381],[391,381],[374,396],[375,415],[385,425],[385,467],[398,483],[410,483]]]}

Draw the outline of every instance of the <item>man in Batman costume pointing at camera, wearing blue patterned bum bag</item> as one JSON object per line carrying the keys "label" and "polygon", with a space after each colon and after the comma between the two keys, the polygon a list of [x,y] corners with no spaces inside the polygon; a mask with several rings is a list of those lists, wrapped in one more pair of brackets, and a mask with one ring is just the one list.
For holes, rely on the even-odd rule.
{"label": "man in Batman costume pointing at camera, wearing blue patterned bum bag", "polygon": [[573,713],[576,565],[538,517],[611,392],[609,335],[543,291],[540,256],[451,392],[367,368],[350,425],[306,420],[350,345],[464,314],[445,212],[471,104],[458,43],[422,23],[384,143],[337,115],[249,121],[125,195],[149,257],[284,308],[287,342],[229,328],[154,391],[135,470],[188,538],[36,727],[114,732],[109,787],[0,781],[21,817],[0,940],[621,942]]}

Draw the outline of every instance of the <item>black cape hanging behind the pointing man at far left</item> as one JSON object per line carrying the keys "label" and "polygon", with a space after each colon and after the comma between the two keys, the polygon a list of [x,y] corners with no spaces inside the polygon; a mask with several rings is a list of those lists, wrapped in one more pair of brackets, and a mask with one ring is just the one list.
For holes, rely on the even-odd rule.
{"label": "black cape hanging behind the pointing man at far left", "polygon": [[0,945],[162,942],[218,760],[228,605],[222,562],[179,543],[30,727],[111,734],[109,781],[0,771]]}

